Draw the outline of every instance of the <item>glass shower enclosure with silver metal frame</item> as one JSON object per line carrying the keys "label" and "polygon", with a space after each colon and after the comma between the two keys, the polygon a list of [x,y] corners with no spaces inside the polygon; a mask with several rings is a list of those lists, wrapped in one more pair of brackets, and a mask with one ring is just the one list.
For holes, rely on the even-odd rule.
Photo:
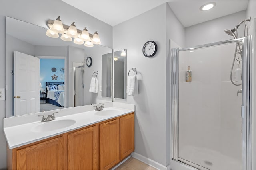
{"label": "glass shower enclosure with silver metal frame", "polygon": [[252,37],[244,37],[171,49],[173,160],[200,170],[251,170],[251,48]]}

